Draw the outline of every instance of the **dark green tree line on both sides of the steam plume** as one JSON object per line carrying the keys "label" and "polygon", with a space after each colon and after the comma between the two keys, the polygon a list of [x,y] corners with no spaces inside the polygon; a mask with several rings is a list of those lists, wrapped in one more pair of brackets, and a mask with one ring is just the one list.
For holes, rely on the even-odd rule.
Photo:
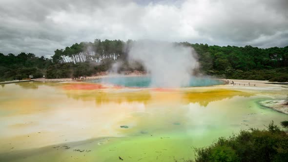
{"label": "dark green tree line on both sides of the steam plume", "polygon": [[[132,41],[120,40],[75,43],[65,49],[56,49],[51,59],[34,54],[0,54],[0,80],[34,78],[70,78],[96,74],[111,69],[114,62],[121,62],[117,72],[144,71],[139,62],[127,61],[128,47]],[[267,48],[245,46],[209,46],[207,44],[178,43],[191,46],[201,64],[196,74],[228,79],[288,81],[288,46]],[[175,54],[177,57],[177,54]],[[112,68],[113,69],[113,68]]]}

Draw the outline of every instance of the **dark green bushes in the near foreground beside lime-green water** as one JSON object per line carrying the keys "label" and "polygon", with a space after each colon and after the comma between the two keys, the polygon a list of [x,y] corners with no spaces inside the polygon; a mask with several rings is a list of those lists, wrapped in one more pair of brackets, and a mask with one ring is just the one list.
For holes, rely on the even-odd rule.
{"label": "dark green bushes in the near foreground beside lime-green water", "polygon": [[195,152],[195,162],[288,162],[288,134],[272,121],[268,130],[242,130]]}

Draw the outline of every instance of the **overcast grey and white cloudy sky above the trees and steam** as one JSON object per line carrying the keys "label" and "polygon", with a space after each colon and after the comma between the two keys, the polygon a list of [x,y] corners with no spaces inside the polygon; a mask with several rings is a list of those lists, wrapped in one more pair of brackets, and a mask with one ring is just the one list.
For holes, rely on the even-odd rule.
{"label": "overcast grey and white cloudy sky above the trees and steam", "polygon": [[0,0],[0,53],[81,41],[152,39],[209,45],[288,45],[288,0]]}

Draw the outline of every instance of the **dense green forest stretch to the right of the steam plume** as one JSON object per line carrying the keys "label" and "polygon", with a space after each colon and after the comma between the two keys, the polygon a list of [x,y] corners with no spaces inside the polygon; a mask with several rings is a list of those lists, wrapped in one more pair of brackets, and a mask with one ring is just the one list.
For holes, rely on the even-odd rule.
{"label": "dense green forest stretch to the right of the steam plume", "polygon": [[288,81],[288,46],[267,48],[189,44],[199,55],[201,70],[227,79]]}

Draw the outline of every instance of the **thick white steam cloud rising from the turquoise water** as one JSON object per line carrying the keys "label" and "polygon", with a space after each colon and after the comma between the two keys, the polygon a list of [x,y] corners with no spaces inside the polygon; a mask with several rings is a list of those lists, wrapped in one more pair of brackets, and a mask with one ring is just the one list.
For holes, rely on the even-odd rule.
{"label": "thick white steam cloud rising from the turquoise water", "polygon": [[142,62],[151,76],[152,87],[189,85],[193,69],[198,67],[191,47],[161,41],[135,41],[129,45],[130,62]]}

